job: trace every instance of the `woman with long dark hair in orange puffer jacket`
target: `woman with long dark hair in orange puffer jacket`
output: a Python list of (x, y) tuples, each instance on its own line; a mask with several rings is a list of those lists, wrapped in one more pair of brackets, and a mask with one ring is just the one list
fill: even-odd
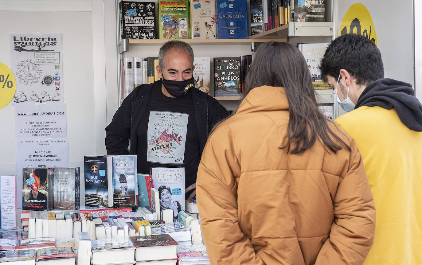
[(263, 43), (197, 175), (211, 264), (362, 264), (375, 209), (354, 140), (318, 109), (303, 55)]

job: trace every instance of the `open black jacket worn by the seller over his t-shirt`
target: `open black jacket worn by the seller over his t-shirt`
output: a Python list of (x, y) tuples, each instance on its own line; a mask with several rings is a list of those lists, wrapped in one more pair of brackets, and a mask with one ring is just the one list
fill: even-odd
[[(146, 106), (155, 84), (161, 81), (136, 87), (124, 100), (106, 127), (107, 154), (137, 154), (137, 128), (141, 123)], [(214, 98), (199, 89), (191, 89), (196, 123), (198, 125), (200, 152), (205, 147), (212, 127), (229, 115), (229, 112)], [(175, 110), (177, 111), (177, 110)], [(132, 130), (132, 128), (135, 128)], [(145, 129), (146, 130), (146, 129)], [(130, 153), (127, 151), (130, 140)]]

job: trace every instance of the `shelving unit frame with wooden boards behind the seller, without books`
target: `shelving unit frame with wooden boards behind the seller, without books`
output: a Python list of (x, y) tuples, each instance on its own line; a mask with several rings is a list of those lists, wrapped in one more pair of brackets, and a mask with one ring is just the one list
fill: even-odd
[[(117, 17), (118, 14), (118, 2), (116, 0)], [(280, 27), (267, 30), (245, 39), (187, 39), (182, 40), (189, 43), (194, 50), (195, 57), (210, 57), (211, 62), (211, 90), (213, 90), (213, 57), (231, 57), (239, 56), (244, 54), (251, 54), (251, 51), (255, 51), (256, 47), (260, 43), (267, 41), (284, 41), (296, 45), (296, 43), (329, 43), (333, 40), (334, 27), (333, 27), (333, 1), (325, 1), (325, 20), (326, 22), (289, 22)], [(249, 1), (248, 1), (249, 4)], [(117, 29), (119, 31), (120, 24), (119, 20), (116, 21)], [(117, 32), (118, 35), (118, 62), (123, 57), (151, 57), (157, 56), (158, 50), (163, 43), (168, 40), (162, 39), (121, 39), (121, 32)], [(119, 73), (121, 71), (121, 64), (118, 63)], [(119, 78), (120, 75), (119, 75)], [(121, 84), (119, 80), (118, 84)], [(118, 88), (120, 91), (120, 87)], [(323, 105), (331, 105), (333, 107), (333, 116), (338, 116), (338, 108), (335, 103), (335, 95), (333, 90), (316, 90), (317, 98), (319, 103)], [(119, 105), (122, 103), (124, 98), (119, 93)], [(211, 91), (211, 95), (214, 95)], [(240, 96), (232, 97), (215, 97), (224, 105), (228, 110), (233, 110), (238, 104)]]

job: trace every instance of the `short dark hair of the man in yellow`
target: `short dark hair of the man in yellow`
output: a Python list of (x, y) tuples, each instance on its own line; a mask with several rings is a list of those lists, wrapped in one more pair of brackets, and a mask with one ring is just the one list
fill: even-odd
[(356, 84), (365, 85), (384, 78), (381, 52), (376, 45), (362, 35), (341, 35), (328, 46), (319, 65), (322, 78), (337, 78), (345, 69), (356, 78)]

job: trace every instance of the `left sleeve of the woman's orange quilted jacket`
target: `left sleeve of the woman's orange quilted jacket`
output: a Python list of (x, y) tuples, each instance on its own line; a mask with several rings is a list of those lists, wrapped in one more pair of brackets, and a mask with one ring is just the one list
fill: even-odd
[(235, 177), (240, 176), (240, 166), (230, 138), (217, 128), (198, 168), (196, 190), (203, 238), (213, 265), (263, 265), (238, 225)]

